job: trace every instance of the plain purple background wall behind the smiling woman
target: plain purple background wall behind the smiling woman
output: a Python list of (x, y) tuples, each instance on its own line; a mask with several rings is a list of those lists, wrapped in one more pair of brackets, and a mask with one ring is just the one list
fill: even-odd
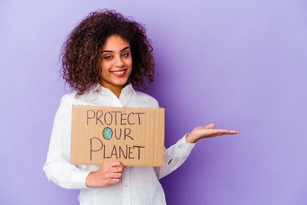
[(196, 126), (238, 129), (203, 139), (161, 179), (170, 205), (306, 205), (307, 1), (0, 2), (0, 204), (76, 205), (78, 190), (43, 172), (60, 98), (66, 35), (110, 8), (146, 24), (165, 146)]

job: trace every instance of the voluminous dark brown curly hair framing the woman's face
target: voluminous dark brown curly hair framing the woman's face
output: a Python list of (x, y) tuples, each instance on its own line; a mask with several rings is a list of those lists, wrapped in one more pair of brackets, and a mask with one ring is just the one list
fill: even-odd
[(146, 89), (146, 82), (153, 83), (153, 47), (144, 25), (114, 10), (97, 10), (73, 29), (60, 51), (60, 75), (70, 88), (77, 90), (76, 97), (101, 82), (102, 47), (112, 35), (118, 35), (130, 44), (132, 71), (129, 82), (143, 89)]

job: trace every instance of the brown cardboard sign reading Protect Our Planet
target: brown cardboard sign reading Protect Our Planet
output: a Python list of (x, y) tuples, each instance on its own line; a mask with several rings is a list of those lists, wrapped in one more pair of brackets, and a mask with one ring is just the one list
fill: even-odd
[(164, 108), (73, 105), (71, 164), (163, 166)]

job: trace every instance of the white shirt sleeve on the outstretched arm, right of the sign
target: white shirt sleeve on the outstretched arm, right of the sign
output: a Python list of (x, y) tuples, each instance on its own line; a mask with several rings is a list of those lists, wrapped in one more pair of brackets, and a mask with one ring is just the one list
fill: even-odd
[(185, 134), (175, 145), (172, 145), (168, 149), (165, 149), (164, 147), (164, 166), (154, 168), (158, 179), (172, 173), (189, 156), (190, 152), (195, 146), (195, 143), (187, 143), (185, 141), (186, 135), (187, 134)]

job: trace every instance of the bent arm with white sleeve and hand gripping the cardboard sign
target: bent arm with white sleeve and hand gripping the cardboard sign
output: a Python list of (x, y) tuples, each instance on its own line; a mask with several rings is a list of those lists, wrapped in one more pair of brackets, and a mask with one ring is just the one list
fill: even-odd
[(107, 162), (97, 171), (81, 170), (70, 164), (72, 102), (63, 96), (55, 114), (47, 161), (47, 178), (63, 188), (81, 189), (118, 183), (124, 166), (119, 161)]

